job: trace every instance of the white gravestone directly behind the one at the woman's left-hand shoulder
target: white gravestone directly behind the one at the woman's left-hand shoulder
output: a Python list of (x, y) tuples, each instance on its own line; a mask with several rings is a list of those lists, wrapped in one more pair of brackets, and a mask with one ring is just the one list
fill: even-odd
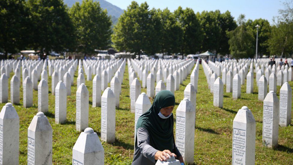
[(137, 78), (134, 78), (130, 85), (130, 110), (131, 112), (135, 112), (135, 102), (137, 97), (141, 93), (141, 86), (140, 82), (138, 81)]

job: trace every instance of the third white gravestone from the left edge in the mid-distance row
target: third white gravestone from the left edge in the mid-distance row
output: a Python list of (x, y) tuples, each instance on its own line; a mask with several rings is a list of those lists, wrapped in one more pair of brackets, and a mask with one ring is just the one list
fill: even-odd
[(32, 81), (29, 76), (23, 82), (23, 106), (25, 108), (32, 106)]

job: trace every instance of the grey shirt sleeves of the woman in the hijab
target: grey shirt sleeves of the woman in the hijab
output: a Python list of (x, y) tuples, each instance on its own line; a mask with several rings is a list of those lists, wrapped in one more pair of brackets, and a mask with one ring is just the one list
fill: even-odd
[[(145, 128), (138, 128), (136, 132), (137, 143), (135, 144), (135, 151), (132, 165), (153, 165), (156, 163), (155, 154), (157, 149), (150, 146), (149, 132)], [(175, 154), (180, 157), (181, 154), (176, 146), (173, 146)], [(172, 151), (171, 151), (172, 152)]]

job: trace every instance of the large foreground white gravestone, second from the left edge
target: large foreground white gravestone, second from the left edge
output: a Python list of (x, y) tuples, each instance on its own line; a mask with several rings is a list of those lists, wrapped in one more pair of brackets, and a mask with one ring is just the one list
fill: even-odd
[(53, 130), (43, 112), (38, 112), (28, 128), (27, 164), (52, 164)]

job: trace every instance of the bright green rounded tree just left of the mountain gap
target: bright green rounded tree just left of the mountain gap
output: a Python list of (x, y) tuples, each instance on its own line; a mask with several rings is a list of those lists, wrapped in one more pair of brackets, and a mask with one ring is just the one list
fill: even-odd
[(77, 51), (87, 55), (95, 49), (108, 48), (112, 22), (98, 2), (83, 0), (81, 5), (76, 2), (69, 14), (76, 28)]

